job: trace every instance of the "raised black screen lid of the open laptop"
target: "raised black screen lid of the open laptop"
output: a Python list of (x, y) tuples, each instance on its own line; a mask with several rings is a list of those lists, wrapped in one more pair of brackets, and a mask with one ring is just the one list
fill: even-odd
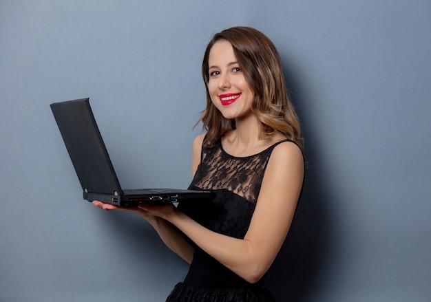
[(123, 195), (88, 98), (50, 106), (83, 191)]

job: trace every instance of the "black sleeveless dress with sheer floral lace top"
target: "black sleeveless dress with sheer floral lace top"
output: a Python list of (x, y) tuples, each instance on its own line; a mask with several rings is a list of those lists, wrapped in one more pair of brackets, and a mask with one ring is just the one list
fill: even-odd
[[(286, 142), (290, 140), (283, 140)], [(216, 197), (209, 202), (178, 204), (178, 208), (202, 226), (214, 232), (243, 239), (255, 210), (260, 185), (274, 147), (244, 158), (226, 153), (220, 140), (202, 147), (201, 159), (189, 186), (193, 190), (211, 190)], [(251, 284), (198, 246), (185, 280), (178, 283), (167, 302), (273, 302), (263, 288), (264, 277)]]

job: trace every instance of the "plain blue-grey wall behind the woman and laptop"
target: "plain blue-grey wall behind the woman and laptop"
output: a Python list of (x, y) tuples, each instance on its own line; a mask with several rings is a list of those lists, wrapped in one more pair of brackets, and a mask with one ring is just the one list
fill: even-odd
[(49, 104), (90, 97), (124, 187), (190, 180), (214, 32), (282, 56), (307, 180), (280, 301), (429, 301), (431, 2), (0, 2), (0, 301), (163, 301), (187, 272), (143, 219), (82, 200)]

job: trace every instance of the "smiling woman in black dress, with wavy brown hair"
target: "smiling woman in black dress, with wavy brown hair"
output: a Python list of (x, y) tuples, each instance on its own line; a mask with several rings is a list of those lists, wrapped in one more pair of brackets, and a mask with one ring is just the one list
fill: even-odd
[[(273, 43), (253, 28), (213, 36), (202, 62), (206, 133), (189, 188), (211, 202), (120, 208), (145, 217), (191, 263), (167, 301), (274, 301), (264, 275), (288, 233), (304, 180), (299, 122)], [(118, 209), (93, 202), (105, 210)]]

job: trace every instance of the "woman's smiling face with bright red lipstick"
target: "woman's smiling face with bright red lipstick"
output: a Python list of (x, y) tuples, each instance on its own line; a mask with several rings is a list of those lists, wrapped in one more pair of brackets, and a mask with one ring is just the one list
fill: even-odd
[(254, 94), (246, 82), (231, 43), (216, 42), (209, 52), (208, 66), (209, 95), (224, 118), (238, 120), (251, 116)]

